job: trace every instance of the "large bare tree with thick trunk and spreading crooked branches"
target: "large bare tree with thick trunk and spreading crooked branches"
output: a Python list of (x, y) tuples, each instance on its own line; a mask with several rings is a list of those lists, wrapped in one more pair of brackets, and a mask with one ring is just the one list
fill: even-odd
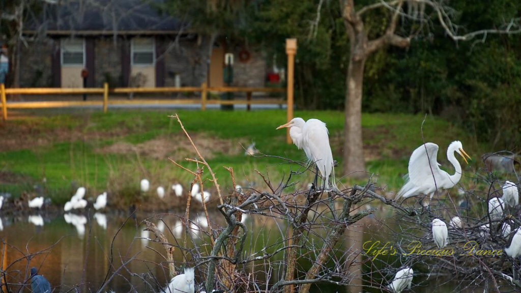
[[(422, 28), (428, 28), (434, 22), (438, 22), (446, 35), (454, 41), (466, 41), (475, 36), (483, 36), (481, 40), (485, 40), (488, 34), (514, 34), (521, 31), (517, 19), (512, 19), (510, 22), (504, 23), (504, 26), (500, 29), (486, 29), (458, 34), (458, 26), (453, 22), (456, 13), (446, 4), (446, 1), (439, 0), (378, 0), (372, 4), (359, 6), (355, 4), (354, 0), (340, 0), (342, 18), (348, 31), (351, 46), (348, 74), (345, 81), (343, 154), (345, 174), (352, 174), (354, 177), (364, 176), (364, 173), (358, 172), (365, 170), (362, 143), (362, 96), (365, 63), (371, 54), (386, 46), (408, 47), (413, 36), (418, 35)], [(404, 9), (405, 7), (407, 9)], [(390, 20), (384, 33), (371, 40), (369, 39), (368, 28), (365, 25), (364, 15), (375, 9), (386, 9)], [(396, 27), (400, 25), (401, 19), (405, 19), (409, 23), (417, 23), (420, 29), (405, 33), (404, 30), (398, 32)], [(461, 28), (460, 31), (462, 31)]]

